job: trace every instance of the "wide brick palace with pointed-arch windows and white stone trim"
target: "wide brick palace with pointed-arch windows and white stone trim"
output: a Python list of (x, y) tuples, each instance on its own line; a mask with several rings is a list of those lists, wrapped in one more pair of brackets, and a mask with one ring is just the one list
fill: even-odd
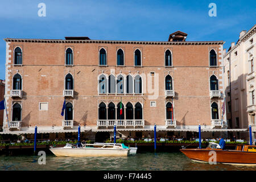
[[(226, 131), (223, 41), (6, 38), (3, 133), (203, 137)], [(65, 111), (61, 115), (65, 101)], [(122, 113), (121, 111), (122, 110)], [(213, 131), (215, 131), (213, 133)]]

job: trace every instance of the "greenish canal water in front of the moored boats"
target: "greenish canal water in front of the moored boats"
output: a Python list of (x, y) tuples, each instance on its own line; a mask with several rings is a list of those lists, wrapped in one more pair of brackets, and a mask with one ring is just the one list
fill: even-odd
[(256, 167), (192, 162), (181, 152), (145, 152), (125, 157), (71, 158), (46, 155), (46, 164), (38, 164), (40, 156), (0, 156), (0, 170), (108, 170), (108, 171), (256, 171)]

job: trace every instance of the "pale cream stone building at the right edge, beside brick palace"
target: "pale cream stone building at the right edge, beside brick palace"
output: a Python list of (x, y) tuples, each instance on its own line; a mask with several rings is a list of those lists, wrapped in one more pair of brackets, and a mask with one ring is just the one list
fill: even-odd
[[(225, 95), (228, 128), (239, 129), (252, 126), (256, 132), (255, 68), (256, 24), (248, 31), (241, 31), (235, 44), (224, 49)], [(238, 138), (248, 138), (248, 131), (230, 133)]]

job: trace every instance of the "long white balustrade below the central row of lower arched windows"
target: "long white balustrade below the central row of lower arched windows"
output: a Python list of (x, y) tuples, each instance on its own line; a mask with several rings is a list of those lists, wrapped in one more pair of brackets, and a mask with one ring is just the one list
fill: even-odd
[(98, 119), (97, 127), (99, 126), (143, 126), (144, 127), (144, 119)]

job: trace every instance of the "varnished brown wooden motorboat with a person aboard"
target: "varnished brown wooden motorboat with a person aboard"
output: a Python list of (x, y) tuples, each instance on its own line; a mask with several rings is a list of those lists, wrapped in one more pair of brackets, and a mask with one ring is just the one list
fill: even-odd
[[(256, 166), (256, 146), (249, 144), (238, 144), (236, 150), (222, 150), (217, 143), (210, 142), (207, 148), (183, 148), (180, 151), (195, 162)], [(211, 151), (216, 152), (215, 161)]]

